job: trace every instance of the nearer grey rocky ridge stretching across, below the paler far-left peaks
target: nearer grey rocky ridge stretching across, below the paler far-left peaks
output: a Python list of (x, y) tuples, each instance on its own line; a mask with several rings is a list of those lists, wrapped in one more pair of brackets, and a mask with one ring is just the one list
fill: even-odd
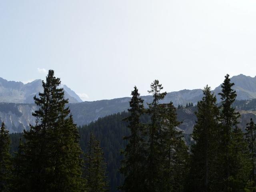
[[(249, 98), (254, 97), (254, 94), (256, 95), (256, 77), (252, 78), (240, 74), (232, 77), (231, 82), (236, 83), (233, 88), (237, 92), (237, 100), (248, 100)], [(37, 83), (40, 84), (40, 82)], [(22, 84), (19, 83), (16, 86), (19, 87), (20, 85)], [(212, 92), (215, 92), (218, 102), (220, 102), (220, 96), (218, 95), (218, 92), (220, 91), (221, 86), (212, 90)], [(178, 104), (186, 105), (188, 102), (196, 104), (201, 100), (202, 96), (202, 89), (185, 89), (168, 93), (160, 103), (168, 103), (172, 101), (175, 106), (178, 106)], [(144, 99), (145, 107), (147, 107), (146, 103), (152, 102), (152, 96), (150, 95), (141, 97)], [(70, 107), (70, 111), (74, 117), (74, 122), (78, 126), (82, 126), (84, 124), (90, 124), (90, 122), (96, 121), (98, 118), (126, 111), (129, 108), (129, 101), (130, 97), (124, 97), (111, 100), (76, 102), (70, 103), (68, 106)], [(32, 100), (30, 103), (32, 102), (34, 101)], [(0, 103), (0, 121), (6, 122), (6, 127), (8, 127), (11, 132), (20, 132), (24, 128), (29, 129), (29, 124), (34, 124), (32, 112), (35, 109), (36, 106), (34, 104), (2, 102)], [(184, 114), (183, 116), (186, 115)], [(189, 131), (191, 132), (191, 128)]]

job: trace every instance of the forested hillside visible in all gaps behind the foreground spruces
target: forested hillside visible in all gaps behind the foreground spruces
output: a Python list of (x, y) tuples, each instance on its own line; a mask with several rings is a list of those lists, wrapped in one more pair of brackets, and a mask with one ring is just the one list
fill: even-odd
[[(240, 109), (240, 106), (246, 103), (250, 103), (248, 101), (236, 101), (236, 108)], [(250, 106), (250, 105), (249, 105)], [(254, 108), (255, 105), (251, 106)], [(252, 109), (250, 107), (250, 109)], [(178, 120), (183, 121), (182, 124), (179, 125), (180, 130), (184, 130), (188, 132), (185, 134), (186, 143), (190, 145), (191, 136), (190, 134), (193, 131), (193, 126), (196, 121), (196, 116), (194, 114), (196, 112), (196, 107), (184, 108), (177, 110)], [(240, 127), (242, 130), (245, 130), (246, 123), (249, 122), (250, 118), (256, 119), (256, 112), (254, 111), (240, 111), (241, 119), (240, 119)], [(124, 118), (128, 116), (128, 112), (121, 112), (117, 114), (112, 114), (103, 118), (99, 118), (95, 122), (91, 122), (88, 125), (78, 126), (78, 132), (80, 135), (80, 146), (82, 150), (85, 152), (87, 148), (87, 144), (90, 138), (90, 132), (93, 132), (96, 138), (100, 141), (101, 147), (104, 151), (104, 157), (107, 162), (107, 175), (110, 181), (111, 191), (116, 191), (116, 187), (119, 186), (123, 181), (123, 176), (119, 172), (120, 168), (120, 160), (122, 159), (120, 155), (120, 151), (124, 149), (127, 142), (122, 138), (130, 133), (128, 130), (127, 123), (123, 121)], [(143, 122), (148, 121), (148, 117), (143, 118)], [(11, 145), (11, 153), (18, 151), (19, 138), (22, 137), (22, 133), (10, 134), (12, 145)]]

